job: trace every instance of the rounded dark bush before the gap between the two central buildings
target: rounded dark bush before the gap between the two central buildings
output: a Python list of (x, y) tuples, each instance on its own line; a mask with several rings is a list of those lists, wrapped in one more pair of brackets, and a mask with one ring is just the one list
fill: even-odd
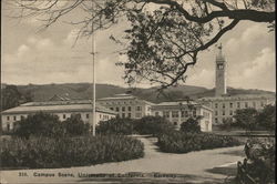
[(144, 116), (135, 121), (135, 131), (140, 134), (158, 135), (174, 130), (174, 125), (162, 116)]

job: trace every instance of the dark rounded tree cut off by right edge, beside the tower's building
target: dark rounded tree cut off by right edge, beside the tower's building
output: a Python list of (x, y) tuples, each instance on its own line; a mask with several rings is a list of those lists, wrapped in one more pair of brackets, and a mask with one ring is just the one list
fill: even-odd
[(276, 105), (266, 105), (256, 117), (256, 123), (260, 127), (275, 131), (276, 127)]

